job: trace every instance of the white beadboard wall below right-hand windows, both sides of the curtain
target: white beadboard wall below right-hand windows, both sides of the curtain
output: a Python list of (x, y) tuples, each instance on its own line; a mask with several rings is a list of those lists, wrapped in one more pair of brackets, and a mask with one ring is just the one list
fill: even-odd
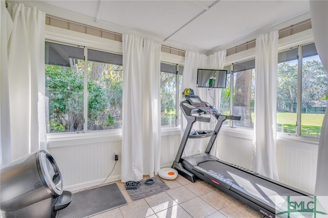
[[(220, 159), (229, 163), (251, 168), (252, 133), (233, 134), (231, 130), (222, 131), (218, 140)], [(235, 136), (231, 136), (235, 135)], [(279, 182), (314, 193), (318, 141), (306, 138), (278, 135), (277, 167)]]

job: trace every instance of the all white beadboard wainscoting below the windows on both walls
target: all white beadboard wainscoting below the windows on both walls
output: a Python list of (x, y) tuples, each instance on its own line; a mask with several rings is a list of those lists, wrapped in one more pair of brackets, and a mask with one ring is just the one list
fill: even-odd
[[(252, 135), (234, 134), (221, 131), (217, 137), (220, 159), (250, 169), (252, 161)], [(236, 135), (236, 136), (234, 136)], [(111, 141), (113, 140), (113, 141)], [(121, 139), (77, 140), (48, 142), (48, 151), (54, 157), (63, 176), (66, 190), (98, 185), (105, 181), (115, 164), (114, 152), (118, 151), (119, 161), (106, 182), (120, 180)], [(316, 178), (318, 143), (306, 138), (280, 137), (277, 141), (277, 165), (279, 181), (303, 191), (313, 193)], [(50, 145), (50, 146), (49, 146)], [(178, 147), (180, 133), (162, 133), (161, 167), (171, 167)]]

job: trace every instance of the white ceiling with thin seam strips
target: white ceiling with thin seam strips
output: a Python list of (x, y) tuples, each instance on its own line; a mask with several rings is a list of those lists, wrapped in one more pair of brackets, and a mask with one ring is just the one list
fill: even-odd
[(227, 49), (224, 47), (310, 18), (309, 2), (304, 0), (20, 2), (52, 16), (204, 52)]

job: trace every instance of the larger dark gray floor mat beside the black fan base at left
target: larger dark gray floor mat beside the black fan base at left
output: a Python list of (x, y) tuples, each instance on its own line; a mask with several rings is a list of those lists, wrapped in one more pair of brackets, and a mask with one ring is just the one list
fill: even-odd
[(56, 218), (88, 217), (128, 204), (116, 183), (73, 193), (68, 207)]

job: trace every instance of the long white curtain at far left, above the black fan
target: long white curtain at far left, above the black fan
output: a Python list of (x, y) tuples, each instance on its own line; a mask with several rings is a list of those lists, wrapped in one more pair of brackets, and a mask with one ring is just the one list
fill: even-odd
[[(8, 72), (6, 73), (6, 70), (3, 72), (2, 69), (2, 78), (3, 76), (5, 78), (2, 83), (7, 83), (5, 84), (7, 90), (3, 93), (3, 86), (1, 89), (7, 105), (4, 106), (3, 103), (1, 105), (1, 135), (6, 139), (6, 143), (2, 143), (2, 155), (10, 157), (10, 160), (3, 162), (4, 165), (30, 152), (46, 148), (44, 103), (46, 14), (36, 8), (27, 8), (24, 4), (10, 3), (8, 12), (13, 21), (13, 28), (7, 48)], [(3, 63), (1, 65), (3, 66)], [(3, 116), (3, 112), (7, 117), (4, 117), (5, 114)], [(5, 127), (10, 130), (3, 130)]]

